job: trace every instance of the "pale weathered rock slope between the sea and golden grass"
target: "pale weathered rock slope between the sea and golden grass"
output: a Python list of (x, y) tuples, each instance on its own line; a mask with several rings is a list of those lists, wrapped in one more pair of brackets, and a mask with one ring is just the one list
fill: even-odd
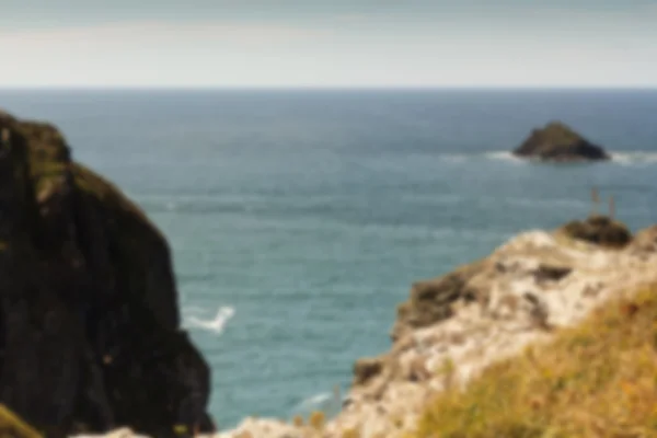
[[(625, 229), (609, 218), (583, 223)], [(580, 239), (564, 228), (529, 231), (482, 261), (418, 281), (399, 308), (392, 348), (356, 364), (348, 403), (321, 431), (250, 418), (219, 437), (405, 437), (437, 393), (462, 388), (530, 344), (540, 351), (560, 327), (657, 281), (656, 230), (623, 244)]]

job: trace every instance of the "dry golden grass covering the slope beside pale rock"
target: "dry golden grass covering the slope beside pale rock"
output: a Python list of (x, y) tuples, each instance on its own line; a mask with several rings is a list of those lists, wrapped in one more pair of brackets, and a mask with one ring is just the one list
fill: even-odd
[(657, 437), (657, 287), (439, 395), (410, 438)]

